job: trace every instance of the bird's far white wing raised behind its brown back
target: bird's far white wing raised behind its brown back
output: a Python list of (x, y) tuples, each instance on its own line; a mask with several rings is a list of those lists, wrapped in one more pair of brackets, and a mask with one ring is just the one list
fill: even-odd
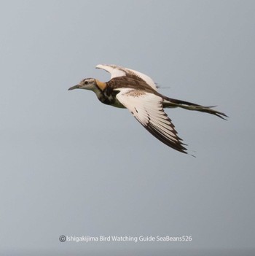
[(98, 65), (96, 69), (104, 69), (111, 74), (111, 78), (114, 77), (123, 77), (123, 76), (135, 76), (139, 79), (143, 79), (150, 87), (154, 90), (157, 90), (157, 85), (153, 82), (152, 78), (148, 77), (146, 74), (142, 74), (133, 69), (123, 68), (122, 66), (116, 65)]

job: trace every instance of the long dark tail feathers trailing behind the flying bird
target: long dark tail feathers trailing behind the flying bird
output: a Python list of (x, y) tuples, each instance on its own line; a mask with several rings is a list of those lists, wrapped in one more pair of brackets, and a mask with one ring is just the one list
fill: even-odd
[(182, 109), (189, 109), (189, 110), (205, 112), (205, 113), (209, 113), (212, 115), (216, 115), (217, 117), (220, 117), (224, 120), (227, 120), (225, 117), (228, 117), (223, 112), (219, 112), (215, 109), (212, 109), (215, 106), (201, 106), (201, 105), (194, 104), (192, 102), (181, 101), (176, 98), (168, 98), (165, 96), (163, 98), (164, 98), (164, 101), (163, 101), (164, 107), (181, 107)]

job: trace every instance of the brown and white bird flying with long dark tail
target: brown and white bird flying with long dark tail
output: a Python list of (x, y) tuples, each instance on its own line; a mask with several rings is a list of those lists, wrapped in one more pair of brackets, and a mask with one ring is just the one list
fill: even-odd
[(146, 74), (115, 65), (98, 65), (111, 74), (109, 82), (85, 78), (68, 90), (93, 90), (103, 104), (128, 109), (136, 120), (157, 139), (174, 150), (187, 154), (187, 149), (178, 136), (175, 126), (164, 112), (164, 108), (176, 108), (205, 112), (225, 119), (227, 115), (213, 109), (188, 101), (168, 98), (157, 91), (157, 85)]

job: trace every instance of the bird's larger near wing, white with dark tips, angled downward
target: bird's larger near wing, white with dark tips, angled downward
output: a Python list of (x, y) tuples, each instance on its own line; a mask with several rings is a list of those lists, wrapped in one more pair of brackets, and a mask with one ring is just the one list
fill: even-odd
[(187, 150), (162, 107), (162, 98), (141, 90), (117, 89), (117, 99), (157, 139), (180, 152)]

